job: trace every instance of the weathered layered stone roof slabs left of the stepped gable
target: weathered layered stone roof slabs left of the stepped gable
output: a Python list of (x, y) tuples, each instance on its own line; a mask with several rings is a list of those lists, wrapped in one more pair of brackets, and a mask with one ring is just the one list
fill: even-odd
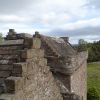
[(5, 81), (12, 76), (14, 63), (21, 62), (23, 40), (7, 40), (0, 44), (0, 92), (7, 91)]

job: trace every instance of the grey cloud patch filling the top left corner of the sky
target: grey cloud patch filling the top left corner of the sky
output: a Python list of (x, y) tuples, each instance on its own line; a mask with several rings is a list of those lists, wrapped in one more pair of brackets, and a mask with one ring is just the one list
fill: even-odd
[(12, 14), (28, 8), (38, 0), (0, 0), (0, 13)]

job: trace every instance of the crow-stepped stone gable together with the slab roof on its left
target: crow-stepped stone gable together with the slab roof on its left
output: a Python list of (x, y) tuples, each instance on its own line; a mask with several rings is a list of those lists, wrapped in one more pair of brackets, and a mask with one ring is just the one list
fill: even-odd
[(63, 100), (40, 39), (20, 35), (0, 44), (0, 100)]

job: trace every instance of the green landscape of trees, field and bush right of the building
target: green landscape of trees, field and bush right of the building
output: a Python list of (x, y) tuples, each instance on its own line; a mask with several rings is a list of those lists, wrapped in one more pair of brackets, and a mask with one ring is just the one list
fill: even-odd
[(100, 97), (100, 41), (88, 43), (80, 39), (76, 48), (78, 51), (88, 51), (87, 90), (91, 98), (98, 95)]

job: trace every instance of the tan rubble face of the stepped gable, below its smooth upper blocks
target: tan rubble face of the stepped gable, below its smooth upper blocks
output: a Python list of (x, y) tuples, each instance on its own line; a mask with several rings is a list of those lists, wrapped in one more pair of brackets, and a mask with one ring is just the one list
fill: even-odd
[[(37, 51), (37, 50), (36, 50)], [(36, 53), (34, 51), (34, 53)], [(23, 67), (23, 73), (20, 72)], [(15, 71), (14, 71), (15, 70)], [(0, 99), (7, 100), (62, 100), (58, 87), (46, 66), (46, 59), (33, 58), (31, 62), (17, 63), (14, 66), (13, 75), (5, 80), (7, 93)], [(22, 76), (22, 77), (21, 77)], [(13, 93), (13, 94), (12, 94)]]

